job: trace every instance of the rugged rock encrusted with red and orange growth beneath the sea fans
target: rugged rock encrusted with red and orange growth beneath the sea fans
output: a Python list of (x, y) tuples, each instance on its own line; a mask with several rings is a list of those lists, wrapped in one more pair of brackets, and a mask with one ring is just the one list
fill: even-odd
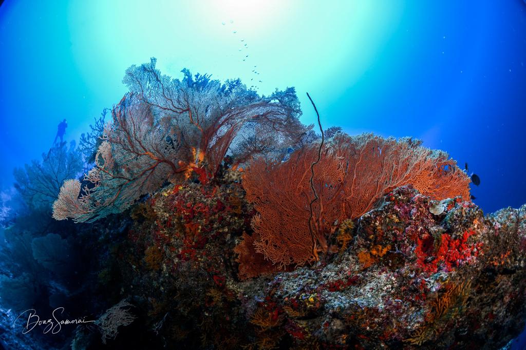
[(526, 205), (484, 216), (461, 197), (399, 187), (343, 221), (337, 249), (316, 266), (284, 271), (260, 256), (252, 261), (267, 276), (251, 278), (236, 258), (258, 254), (239, 248), (254, 214), (226, 178), (171, 185), (134, 207), (105, 282), (147, 330), (126, 337), (151, 347), (463, 349), (502, 347), (524, 326)]

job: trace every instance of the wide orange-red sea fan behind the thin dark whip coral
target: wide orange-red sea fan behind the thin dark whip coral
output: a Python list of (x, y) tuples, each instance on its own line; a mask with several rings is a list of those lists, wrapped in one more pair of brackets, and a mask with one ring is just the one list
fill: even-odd
[(410, 138), (395, 140), (372, 134), (338, 133), (321, 150), (313, 179), (319, 200), (313, 203), (309, 233), (310, 166), (319, 143), (295, 153), (286, 162), (255, 159), (243, 187), (258, 215), (252, 220), (257, 252), (281, 266), (304, 265), (326, 252), (328, 238), (345, 219), (356, 219), (389, 191), (411, 184), (435, 200), (462, 196), (470, 200), (466, 173), (446, 152), (421, 146)]

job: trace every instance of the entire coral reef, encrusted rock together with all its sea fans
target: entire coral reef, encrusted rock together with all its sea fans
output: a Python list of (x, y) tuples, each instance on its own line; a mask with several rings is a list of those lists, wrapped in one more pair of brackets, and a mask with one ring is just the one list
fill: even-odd
[[(0, 348), (490, 349), (523, 329), (526, 204), (484, 215), (419, 140), (320, 140), (294, 88), (183, 74), (131, 66), (108, 123), (16, 172)], [(31, 307), (90, 321), (15, 332)]]

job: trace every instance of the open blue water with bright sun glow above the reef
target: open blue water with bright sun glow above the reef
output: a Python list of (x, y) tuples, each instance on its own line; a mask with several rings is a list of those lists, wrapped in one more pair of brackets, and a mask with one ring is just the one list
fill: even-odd
[[(247, 44), (247, 45), (245, 45)], [(526, 4), (479, 2), (31, 2), (0, 7), (0, 187), (41, 157), (57, 124), (78, 139), (126, 91), (124, 70), (157, 58), (295, 86), (305, 123), (413, 136), (481, 179), (484, 212), (526, 203)], [(519, 346), (519, 345), (517, 345)], [(524, 343), (522, 345), (524, 346)], [(517, 348), (521, 348), (521, 347)]]

